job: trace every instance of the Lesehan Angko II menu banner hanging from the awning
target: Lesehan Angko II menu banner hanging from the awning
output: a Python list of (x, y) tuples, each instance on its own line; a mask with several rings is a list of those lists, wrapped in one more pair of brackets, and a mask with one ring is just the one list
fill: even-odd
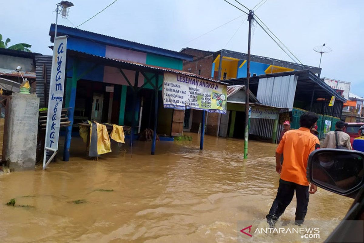
[(165, 72), (163, 106), (226, 114), (226, 85)]

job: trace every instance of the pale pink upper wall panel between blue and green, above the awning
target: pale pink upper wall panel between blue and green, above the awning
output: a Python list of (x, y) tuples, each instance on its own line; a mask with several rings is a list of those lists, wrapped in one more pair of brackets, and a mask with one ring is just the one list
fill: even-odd
[(139, 51), (126, 50), (119, 47), (106, 46), (106, 57), (145, 64), (147, 54)]

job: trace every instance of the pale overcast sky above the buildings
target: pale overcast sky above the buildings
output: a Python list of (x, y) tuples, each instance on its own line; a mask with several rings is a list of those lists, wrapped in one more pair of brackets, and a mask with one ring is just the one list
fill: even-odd
[[(77, 26), (112, 1), (73, 0), (68, 19)], [(0, 34), (10, 44), (29, 43), (33, 52), (52, 55), (48, 32), (58, 2), (1, 0)], [(241, 0), (248, 8), (259, 2)], [(364, 97), (363, 9), (361, 0), (268, 0), (255, 13), (306, 65), (318, 67), (320, 54), (313, 47), (326, 43), (333, 51), (323, 55), (321, 77), (351, 82), (351, 93)], [(246, 53), (245, 16), (193, 40), (242, 14), (223, 0), (118, 0), (80, 29), (175, 51), (191, 47)], [(73, 27), (70, 21), (59, 18), (59, 24)], [(252, 54), (291, 61), (258, 25), (253, 28)]]

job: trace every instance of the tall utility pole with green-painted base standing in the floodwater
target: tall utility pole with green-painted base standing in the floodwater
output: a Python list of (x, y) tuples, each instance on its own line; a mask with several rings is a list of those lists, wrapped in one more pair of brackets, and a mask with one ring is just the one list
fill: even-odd
[(249, 137), (249, 79), (250, 79), (250, 39), (252, 36), (252, 20), (254, 12), (249, 10), (249, 35), (248, 35), (248, 60), (246, 66), (246, 93), (245, 93), (245, 136), (244, 136), (244, 158), (248, 158), (248, 137)]

